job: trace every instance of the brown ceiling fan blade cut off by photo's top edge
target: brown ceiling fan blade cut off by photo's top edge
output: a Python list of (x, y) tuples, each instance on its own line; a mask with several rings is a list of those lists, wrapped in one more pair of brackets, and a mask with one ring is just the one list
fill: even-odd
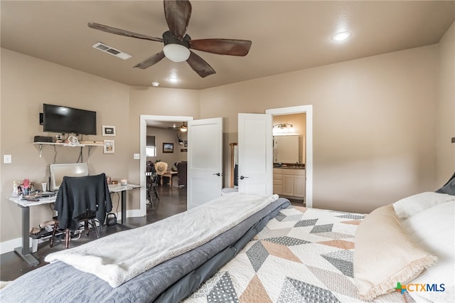
[(169, 31), (173, 36), (182, 40), (188, 28), (191, 17), (191, 3), (188, 0), (164, 1), (164, 16)]

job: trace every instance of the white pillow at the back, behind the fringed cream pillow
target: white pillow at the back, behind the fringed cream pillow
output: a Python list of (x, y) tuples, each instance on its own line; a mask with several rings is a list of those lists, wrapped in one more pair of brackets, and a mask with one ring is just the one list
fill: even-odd
[(446, 193), (427, 191), (424, 193), (417, 193), (417, 195), (409, 196), (407, 198), (402, 198), (393, 203), (393, 208), (395, 208), (395, 213), (397, 213), (400, 220), (406, 220), (407, 218), (417, 215), (417, 213), (420, 213), (421, 211), (449, 201), (455, 202), (455, 196)]

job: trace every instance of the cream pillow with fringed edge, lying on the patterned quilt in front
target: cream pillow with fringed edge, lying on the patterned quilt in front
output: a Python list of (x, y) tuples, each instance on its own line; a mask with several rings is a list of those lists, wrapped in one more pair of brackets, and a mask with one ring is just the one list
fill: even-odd
[(436, 260), (410, 239), (392, 205), (376, 208), (355, 230), (353, 270), (361, 299), (394, 292), (397, 282), (405, 285)]

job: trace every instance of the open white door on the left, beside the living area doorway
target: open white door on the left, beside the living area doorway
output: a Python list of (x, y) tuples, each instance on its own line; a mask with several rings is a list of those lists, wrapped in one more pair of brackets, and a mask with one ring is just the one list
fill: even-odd
[(187, 208), (221, 196), (223, 188), (223, 119), (188, 121)]

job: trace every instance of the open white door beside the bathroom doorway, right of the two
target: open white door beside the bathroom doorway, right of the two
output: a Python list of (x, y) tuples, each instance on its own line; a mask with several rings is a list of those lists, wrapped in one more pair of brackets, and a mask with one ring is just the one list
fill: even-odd
[(238, 115), (239, 192), (272, 195), (272, 115)]

